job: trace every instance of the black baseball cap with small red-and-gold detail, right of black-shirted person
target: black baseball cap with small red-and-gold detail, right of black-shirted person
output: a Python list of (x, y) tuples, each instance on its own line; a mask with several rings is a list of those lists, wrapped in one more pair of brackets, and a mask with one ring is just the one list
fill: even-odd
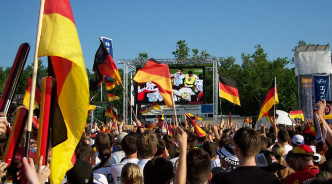
[(256, 156), (256, 165), (268, 172), (275, 172), (285, 169), (286, 167), (279, 164), (276, 156), (271, 151), (263, 151)]

